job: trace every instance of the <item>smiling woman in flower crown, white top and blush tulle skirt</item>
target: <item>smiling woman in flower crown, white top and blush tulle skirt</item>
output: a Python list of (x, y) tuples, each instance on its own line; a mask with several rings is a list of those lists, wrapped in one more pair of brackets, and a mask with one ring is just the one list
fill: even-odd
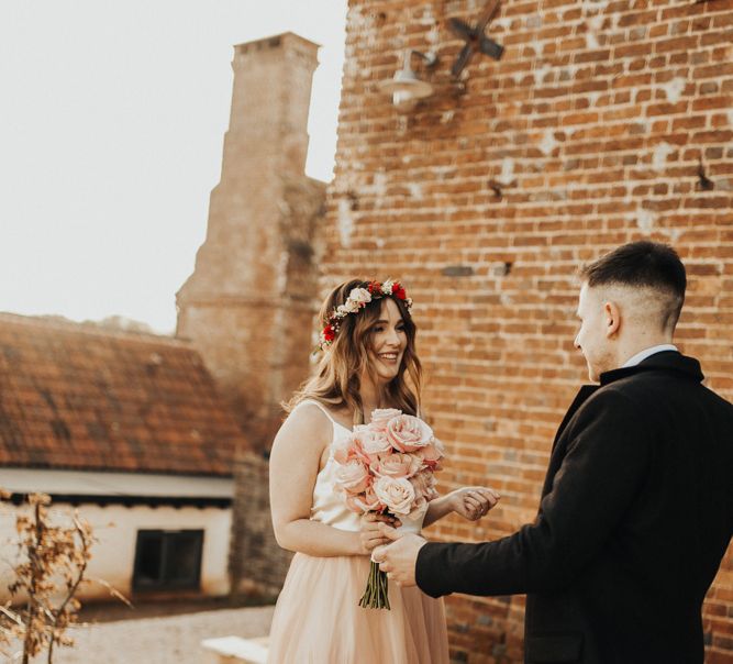
[[(271, 663), (448, 662), (442, 600), (392, 583), (391, 610), (359, 608), (371, 550), (387, 543), (378, 521), (400, 522), (359, 517), (335, 490), (333, 450), (355, 424), (378, 408), (420, 412), (411, 305), (399, 283), (351, 280), (321, 309), (323, 356), (288, 405), (270, 455), (275, 535), (296, 552), (273, 618)], [(464, 487), (431, 500), (418, 521), (451, 512), (476, 520), (498, 499), (492, 489)]]

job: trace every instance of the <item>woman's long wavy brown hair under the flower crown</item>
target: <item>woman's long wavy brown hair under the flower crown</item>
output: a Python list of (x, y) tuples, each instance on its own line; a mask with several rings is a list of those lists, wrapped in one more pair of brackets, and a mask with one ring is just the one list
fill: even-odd
[[(367, 288), (368, 284), (352, 279), (334, 288), (321, 306), (319, 313), (321, 327), (329, 323), (329, 317), (334, 309), (346, 303), (348, 294), (354, 288)], [(390, 407), (399, 408), (407, 414), (418, 414), (422, 390), (422, 365), (415, 352), (418, 330), (404, 301), (391, 296), (375, 299), (358, 313), (349, 314), (342, 320), (336, 337), (323, 353), (313, 376), (296, 391), (288, 403), (284, 405), (286, 411), (290, 412), (306, 399), (313, 399), (325, 406), (346, 406), (354, 413), (354, 423), (364, 423), (362, 376), (365, 373), (375, 376), (367, 351), (371, 343), (374, 323), (379, 320), (382, 302), (388, 298), (397, 305), (402, 317), (407, 345), (398, 374), (387, 385), (385, 396)]]

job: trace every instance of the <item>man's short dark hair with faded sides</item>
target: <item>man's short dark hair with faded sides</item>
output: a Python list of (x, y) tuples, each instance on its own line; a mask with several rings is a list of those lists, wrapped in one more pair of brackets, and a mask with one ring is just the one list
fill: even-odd
[(665, 330), (674, 330), (685, 303), (687, 275), (677, 252), (660, 242), (642, 240), (624, 244), (580, 269), (589, 287), (651, 288), (664, 297)]

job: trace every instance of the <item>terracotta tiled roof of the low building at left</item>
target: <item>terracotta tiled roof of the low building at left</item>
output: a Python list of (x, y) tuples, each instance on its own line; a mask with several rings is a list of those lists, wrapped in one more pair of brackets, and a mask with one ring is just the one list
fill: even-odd
[(241, 440), (189, 344), (0, 313), (0, 466), (231, 475)]

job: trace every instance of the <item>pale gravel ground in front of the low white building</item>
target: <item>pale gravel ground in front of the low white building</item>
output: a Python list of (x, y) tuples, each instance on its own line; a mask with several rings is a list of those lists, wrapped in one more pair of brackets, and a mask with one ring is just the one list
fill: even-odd
[(269, 633), (274, 607), (220, 609), (182, 616), (103, 622), (74, 628), (76, 645), (54, 654), (55, 664), (201, 664), (203, 639)]

